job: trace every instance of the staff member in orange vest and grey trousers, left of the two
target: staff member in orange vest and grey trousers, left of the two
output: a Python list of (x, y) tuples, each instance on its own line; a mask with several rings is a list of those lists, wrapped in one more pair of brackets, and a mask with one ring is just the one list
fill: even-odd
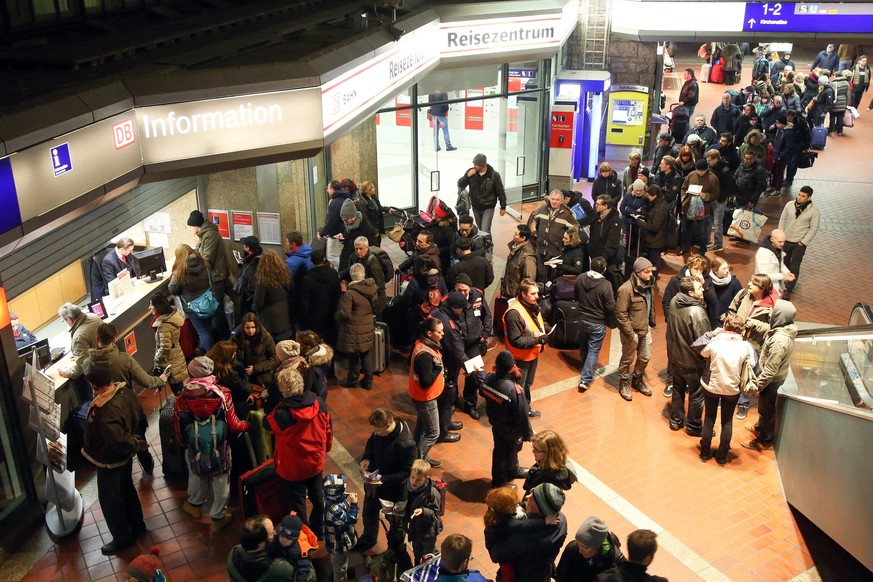
[(418, 445), (418, 456), (431, 467), (441, 465), (428, 453), (440, 436), (437, 398), (445, 388), (443, 355), (440, 352), (443, 335), (443, 324), (439, 319), (428, 317), (418, 324), (419, 339), (412, 348), (409, 374), (409, 396), (417, 416), (413, 439)]

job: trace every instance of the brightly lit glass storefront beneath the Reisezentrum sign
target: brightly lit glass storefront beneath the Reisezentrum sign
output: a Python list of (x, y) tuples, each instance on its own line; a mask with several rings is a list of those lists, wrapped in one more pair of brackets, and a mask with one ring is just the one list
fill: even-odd
[(532, 61), (437, 69), (383, 104), (376, 115), (383, 206), (422, 209), (434, 195), (454, 206), (457, 181), (477, 154), (500, 173), (508, 204), (538, 192), (543, 68)]

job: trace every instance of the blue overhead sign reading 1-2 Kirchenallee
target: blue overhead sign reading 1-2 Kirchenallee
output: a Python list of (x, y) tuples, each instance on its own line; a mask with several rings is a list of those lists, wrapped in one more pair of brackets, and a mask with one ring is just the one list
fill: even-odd
[(747, 3), (743, 32), (873, 31), (873, 4)]

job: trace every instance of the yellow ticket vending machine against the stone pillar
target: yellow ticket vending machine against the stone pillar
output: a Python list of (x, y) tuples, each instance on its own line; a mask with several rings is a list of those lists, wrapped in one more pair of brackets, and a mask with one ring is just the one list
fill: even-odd
[(641, 152), (649, 130), (649, 88), (645, 85), (613, 85), (606, 112), (606, 157), (624, 160)]

